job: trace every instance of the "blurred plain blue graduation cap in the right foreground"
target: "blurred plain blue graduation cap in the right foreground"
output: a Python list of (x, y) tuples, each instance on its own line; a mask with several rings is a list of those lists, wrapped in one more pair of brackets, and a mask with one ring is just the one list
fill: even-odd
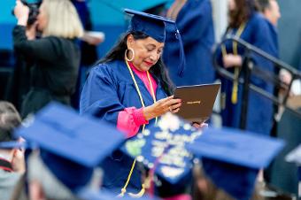
[(231, 128), (208, 128), (188, 150), (202, 158), (206, 175), (238, 200), (249, 200), (259, 169), (282, 150), (282, 140)]

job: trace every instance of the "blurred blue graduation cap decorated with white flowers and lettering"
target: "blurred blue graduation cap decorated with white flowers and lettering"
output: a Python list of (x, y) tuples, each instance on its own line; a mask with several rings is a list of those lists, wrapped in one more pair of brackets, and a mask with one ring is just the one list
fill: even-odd
[(189, 173), (191, 155), (185, 144), (201, 135), (189, 122), (166, 113), (157, 125), (144, 129), (122, 147), (129, 156), (170, 184), (178, 184)]

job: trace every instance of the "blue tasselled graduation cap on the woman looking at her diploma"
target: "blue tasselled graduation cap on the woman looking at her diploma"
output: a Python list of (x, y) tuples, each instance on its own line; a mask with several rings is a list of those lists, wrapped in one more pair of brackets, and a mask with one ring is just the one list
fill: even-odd
[(181, 41), (181, 34), (173, 19), (164, 18), (158, 15), (153, 15), (145, 12), (137, 12), (130, 9), (125, 9), (127, 14), (132, 14), (130, 25), (127, 32), (139, 31), (145, 35), (149, 35), (158, 42), (165, 42), (166, 40), (166, 23), (172, 24), (174, 27), (174, 35), (179, 40), (180, 45), (180, 64), (178, 67), (178, 75), (182, 76), (185, 70), (185, 54), (183, 44)]

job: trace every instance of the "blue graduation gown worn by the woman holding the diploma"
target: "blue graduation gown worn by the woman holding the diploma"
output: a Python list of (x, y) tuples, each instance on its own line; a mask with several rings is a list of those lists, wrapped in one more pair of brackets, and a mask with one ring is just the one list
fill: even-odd
[[(158, 82), (156, 98), (165, 98), (165, 91), (158, 79), (154, 78)], [(142, 93), (145, 106), (153, 104), (153, 98), (143, 81), (137, 75), (135, 75), (135, 80)], [(90, 71), (88, 80), (81, 93), (81, 114), (93, 115), (111, 123), (113, 126), (117, 126), (119, 112), (132, 106), (141, 108), (142, 104), (124, 61), (117, 60), (96, 65)], [(151, 119), (148, 126), (154, 122), (155, 119)], [(120, 189), (127, 181), (127, 175), (133, 161), (132, 158), (127, 157), (120, 150), (116, 150), (111, 156), (105, 158), (101, 165), (104, 170), (103, 187), (120, 192)], [(141, 188), (141, 173), (135, 166), (127, 191), (137, 192)]]

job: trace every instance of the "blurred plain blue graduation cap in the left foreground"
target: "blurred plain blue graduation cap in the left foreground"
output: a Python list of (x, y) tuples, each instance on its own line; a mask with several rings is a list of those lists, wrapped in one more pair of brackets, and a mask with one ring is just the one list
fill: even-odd
[(72, 191), (88, 183), (93, 167), (124, 141), (114, 127), (58, 103), (27, 119), (15, 134), (37, 145), (45, 165)]

